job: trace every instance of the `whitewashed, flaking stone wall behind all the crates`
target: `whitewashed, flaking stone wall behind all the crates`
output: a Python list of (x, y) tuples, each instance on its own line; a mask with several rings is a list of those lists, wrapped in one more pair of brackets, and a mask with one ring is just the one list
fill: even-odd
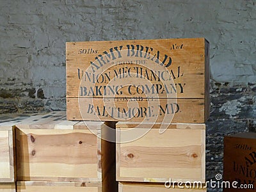
[(65, 109), (65, 42), (205, 37), (207, 179), (214, 178), (223, 135), (256, 131), (255, 26), (255, 0), (0, 0), (0, 113)]

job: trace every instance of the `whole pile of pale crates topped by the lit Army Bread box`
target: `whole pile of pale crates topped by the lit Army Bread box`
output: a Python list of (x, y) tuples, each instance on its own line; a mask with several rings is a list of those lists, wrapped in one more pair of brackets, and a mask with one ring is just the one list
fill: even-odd
[[(13, 186), (17, 154), (19, 192), (115, 191), (115, 180), (123, 192), (166, 191), (169, 180), (204, 183), (208, 117), (204, 38), (70, 42), (67, 118), (65, 112), (33, 115), (1, 132), (3, 167), (13, 169), (3, 177)], [(102, 140), (115, 125), (116, 143), (111, 142), (115, 136)], [(166, 130), (160, 134), (162, 125)], [(132, 139), (125, 133), (131, 129), (147, 134)], [(7, 148), (13, 141), (12, 154)]]

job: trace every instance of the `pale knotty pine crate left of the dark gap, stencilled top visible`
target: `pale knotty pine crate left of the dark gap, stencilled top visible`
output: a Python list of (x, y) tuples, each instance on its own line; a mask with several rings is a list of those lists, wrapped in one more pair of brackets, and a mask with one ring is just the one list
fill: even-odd
[(70, 122), (65, 118), (65, 111), (54, 112), (31, 116), (15, 125), (17, 179), (113, 181), (105, 172), (115, 167), (115, 143), (100, 139), (106, 125), (102, 122), (84, 125), (84, 122)]

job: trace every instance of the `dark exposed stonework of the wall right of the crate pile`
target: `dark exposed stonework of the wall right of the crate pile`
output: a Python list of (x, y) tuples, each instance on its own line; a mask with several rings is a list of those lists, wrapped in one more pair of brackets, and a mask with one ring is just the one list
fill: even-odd
[[(223, 136), (256, 132), (256, 84), (211, 83), (211, 117), (206, 123), (207, 179), (223, 173)], [(220, 189), (209, 189), (220, 191)]]

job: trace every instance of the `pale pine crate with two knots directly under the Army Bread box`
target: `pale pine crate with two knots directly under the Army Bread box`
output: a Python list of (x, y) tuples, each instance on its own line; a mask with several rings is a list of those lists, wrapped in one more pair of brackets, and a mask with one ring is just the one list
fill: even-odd
[[(205, 182), (205, 124), (116, 124), (116, 179), (132, 182)], [(148, 130), (148, 127), (152, 129)], [(125, 130), (147, 132), (127, 143)], [(136, 133), (135, 133), (136, 134)]]

